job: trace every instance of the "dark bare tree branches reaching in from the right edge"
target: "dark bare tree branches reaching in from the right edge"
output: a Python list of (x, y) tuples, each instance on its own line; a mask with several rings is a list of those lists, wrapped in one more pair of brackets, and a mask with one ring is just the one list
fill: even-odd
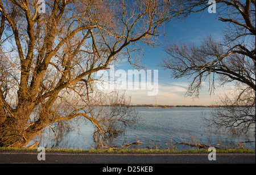
[[(184, 16), (210, 6), (203, 0), (182, 1), (182, 4), (180, 13)], [(229, 129), (242, 126), (241, 130), (246, 132), (249, 126), (255, 127), (255, 117), (252, 117), (255, 116), (255, 1), (216, 0), (216, 6), (218, 20), (226, 23), (222, 40), (209, 36), (200, 46), (174, 42), (166, 47), (168, 58), (163, 59), (161, 66), (171, 70), (174, 78), (192, 79), (187, 94), (196, 97), (205, 80), (209, 81), (211, 93), (216, 79), (221, 86), (236, 83), (233, 97), (221, 100), (228, 112), (219, 110), (212, 121)]]

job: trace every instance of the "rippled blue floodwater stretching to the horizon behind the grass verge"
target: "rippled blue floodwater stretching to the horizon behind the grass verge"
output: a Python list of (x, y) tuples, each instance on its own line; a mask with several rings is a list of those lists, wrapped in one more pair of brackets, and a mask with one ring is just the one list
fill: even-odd
[[(142, 142), (129, 148), (157, 148), (184, 150), (188, 147), (179, 143), (205, 144), (215, 147), (237, 147), (239, 142), (244, 142), (246, 148), (255, 150), (254, 131), (246, 135), (226, 133), (209, 128), (203, 119), (207, 117), (212, 108), (135, 108), (140, 116), (137, 126), (127, 129), (117, 139), (112, 140), (110, 146), (123, 146), (125, 144)], [(40, 145), (45, 148), (71, 148), (90, 150), (95, 148), (93, 142), (93, 124), (81, 121), (73, 123), (74, 129), (66, 132), (56, 141), (40, 140)]]

